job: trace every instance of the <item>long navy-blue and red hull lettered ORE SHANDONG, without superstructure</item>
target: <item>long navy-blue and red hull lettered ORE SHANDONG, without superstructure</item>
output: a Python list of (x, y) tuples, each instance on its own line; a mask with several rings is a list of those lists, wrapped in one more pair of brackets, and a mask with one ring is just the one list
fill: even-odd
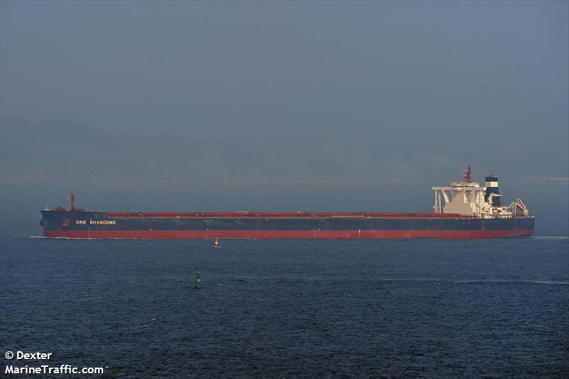
[(44, 237), (78, 239), (488, 239), (529, 237), (533, 217), (459, 214), (42, 211)]

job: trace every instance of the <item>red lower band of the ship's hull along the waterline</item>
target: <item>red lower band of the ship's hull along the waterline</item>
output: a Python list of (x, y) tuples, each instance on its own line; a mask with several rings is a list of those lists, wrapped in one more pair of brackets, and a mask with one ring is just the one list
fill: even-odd
[(46, 230), (43, 235), (80, 239), (490, 239), (531, 234), (533, 230)]

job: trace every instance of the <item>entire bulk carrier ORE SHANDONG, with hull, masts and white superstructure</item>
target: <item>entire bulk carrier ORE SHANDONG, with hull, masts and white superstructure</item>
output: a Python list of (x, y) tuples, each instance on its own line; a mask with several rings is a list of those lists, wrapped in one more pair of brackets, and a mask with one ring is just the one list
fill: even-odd
[(529, 237), (534, 218), (521, 199), (501, 204), (498, 178), (432, 187), (434, 212), (92, 212), (41, 211), (43, 236), (70, 239), (489, 239)]

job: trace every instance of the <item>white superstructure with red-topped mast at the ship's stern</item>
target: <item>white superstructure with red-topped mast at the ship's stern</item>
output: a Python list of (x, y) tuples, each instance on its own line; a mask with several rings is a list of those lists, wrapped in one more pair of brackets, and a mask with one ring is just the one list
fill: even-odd
[[(452, 182), (450, 187), (432, 187), (435, 191), (435, 213), (452, 213), (465, 216), (476, 216), (484, 219), (490, 218), (511, 218), (516, 216), (516, 209), (521, 209), (524, 216), (528, 216), (529, 211), (521, 202), (516, 199), (509, 206), (496, 206), (495, 197), (501, 197), (489, 190), (497, 189), (498, 182), (492, 182), (489, 187), (480, 187), (478, 183), (472, 182), (472, 172), (470, 166), (464, 171), (466, 182)], [(441, 199), (444, 200), (442, 205)], [(497, 202), (497, 204), (500, 204)]]

